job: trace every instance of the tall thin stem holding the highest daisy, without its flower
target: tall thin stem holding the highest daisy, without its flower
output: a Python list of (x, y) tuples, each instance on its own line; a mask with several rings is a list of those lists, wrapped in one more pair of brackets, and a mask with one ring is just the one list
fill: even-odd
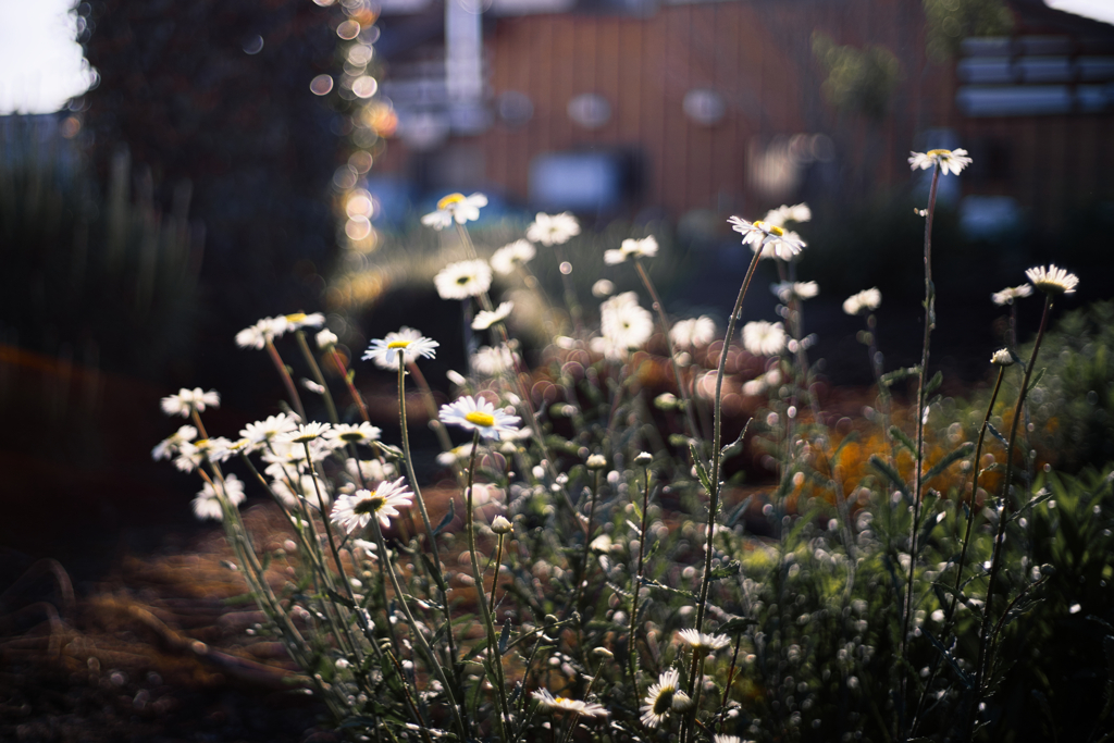
[(925, 338), (921, 343), (920, 379), (917, 383), (917, 452), (912, 488), (912, 522), (909, 527), (909, 577), (906, 579), (905, 602), (901, 610), (901, 637), (898, 655), (901, 658), (900, 693), (898, 696), (897, 733), (905, 726), (906, 693), (909, 686), (909, 623), (912, 619), (913, 584), (917, 579), (917, 536), (920, 530), (921, 488), (925, 480), (925, 397), (928, 384), (928, 352), (932, 329), (936, 326), (936, 289), (932, 285), (932, 217), (936, 215), (936, 186), (940, 180), (940, 166), (932, 169), (932, 186), (928, 192), (928, 214), (925, 217)]

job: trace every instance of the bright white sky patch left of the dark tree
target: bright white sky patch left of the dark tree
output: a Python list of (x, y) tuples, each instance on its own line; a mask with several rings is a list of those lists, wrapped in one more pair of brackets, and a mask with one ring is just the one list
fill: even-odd
[(89, 87), (75, 0), (0, 0), (0, 114), (49, 114)]

